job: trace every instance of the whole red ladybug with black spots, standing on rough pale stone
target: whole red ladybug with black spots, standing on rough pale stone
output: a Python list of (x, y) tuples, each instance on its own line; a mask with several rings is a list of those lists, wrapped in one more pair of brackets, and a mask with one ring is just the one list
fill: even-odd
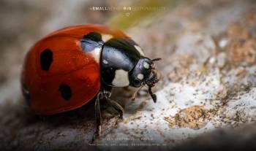
[(121, 31), (99, 25), (71, 26), (48, 34), (31, 47), (23, 63), (22, 93), (37, 115), (67, 112), (95, 100), (100, 134), (99, 100), (104, 98), (123, 117), (124, 109), (110, 98), (113, 87), (147, 85), (157, 101), (151, 88), (159, 81), (154, 68), (158, 60), (147, 58)]

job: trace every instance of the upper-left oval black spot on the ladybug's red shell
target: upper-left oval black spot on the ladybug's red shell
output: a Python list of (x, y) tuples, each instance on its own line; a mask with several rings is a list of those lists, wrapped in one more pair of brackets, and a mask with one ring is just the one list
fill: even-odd
[(50, 69), (50, 64), (53, 62), (53, 52), (49, 49), (42, 51), (40, 55), (41, 69), (48, 71)]

